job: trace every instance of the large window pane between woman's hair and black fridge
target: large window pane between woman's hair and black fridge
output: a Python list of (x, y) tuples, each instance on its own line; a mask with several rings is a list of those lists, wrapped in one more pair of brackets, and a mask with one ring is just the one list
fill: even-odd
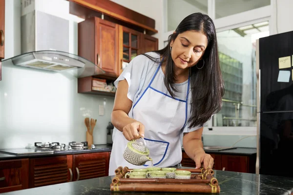
[(213, 126), (256, 126), (255, 40), (267, 36), (267, 21), (217, 33), (225, 95)]

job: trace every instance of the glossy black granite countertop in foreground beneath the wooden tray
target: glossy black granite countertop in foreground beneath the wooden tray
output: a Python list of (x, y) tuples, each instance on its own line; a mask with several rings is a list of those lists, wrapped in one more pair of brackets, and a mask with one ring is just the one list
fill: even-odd
[[(214, 171), (214, 176), (220, 185), (220, 195), (290, 195), (293, 192), (293, 178)], [(112, 177), (43, 186), (1, 195), (183, 195), (183, 193), (111, 192)]]

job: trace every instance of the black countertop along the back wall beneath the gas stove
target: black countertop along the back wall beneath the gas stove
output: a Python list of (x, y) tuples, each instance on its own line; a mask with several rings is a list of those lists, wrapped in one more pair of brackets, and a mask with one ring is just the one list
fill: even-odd
[[(96, 152), (110, 152), (112, 146), (107, 144), (95, 144), (95, 148), (99, 150), (75, 150), (75, 151), (57, 151), (56, 153), (34, 153), (34, 149), (16, 148), (16, 149), (0, 149), (0, 160), (4, 159), (16, 159), (16, 158), (33, 158), (33, 157), (45, 157), (45, 156), (60, 156), (60, 155), (73, 155), (83, 153), (96, 153)], [(17, 155), (17, 153), (25, 153)]]

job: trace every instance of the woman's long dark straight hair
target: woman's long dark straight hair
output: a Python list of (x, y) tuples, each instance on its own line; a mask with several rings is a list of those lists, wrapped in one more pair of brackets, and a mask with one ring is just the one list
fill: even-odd
[[(162, 63), (166, 64), (164, 83), (168, 92), (174, 98), (176, 88), (176, 75), (174, 64), (171, 57), (170, 42), (175, 40), (178, 34), (185, 31), (195, 30), (203, 32), (208, 38), (208, 46), (202, 57), (204, 66), (198, 69), (196, 66), (191, 67), (190, 88), (191, 88), (191, 116), (188, 120), (189, 128), (202, 126), (213, 114), (218, 113), (222, 108), (222, 97), (224, 95), (224, 81), (220, 69), (218, 56), (218, 45), (216, 38), (216, 29), (213, 21), (208, 15), (194, 13), (187, 16), (180, 22), (175, 33), (168, 37), (168, 44), (161, 50), (153, 51), (164, 57)], [(158, 59), (143, 54), (153, 61)], [(201, 65), (200, 65), (201, 67)]]

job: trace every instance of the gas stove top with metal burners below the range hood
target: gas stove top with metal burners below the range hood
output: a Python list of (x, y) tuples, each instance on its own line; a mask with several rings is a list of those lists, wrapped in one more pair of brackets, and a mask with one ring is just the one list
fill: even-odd
[(108, 148), (96, 148), (95, 145), (88, 146), (87, 141), (84, 142), (69, 142), (68, 145), (59, 142), (35, 142), (34, 146), (29, 145), (25, 148), (18, 149), (1, 149), (0, 152), (9, 155), (40, 155), (40, 154), (66, 154), (77, 151), (104, 151)]

